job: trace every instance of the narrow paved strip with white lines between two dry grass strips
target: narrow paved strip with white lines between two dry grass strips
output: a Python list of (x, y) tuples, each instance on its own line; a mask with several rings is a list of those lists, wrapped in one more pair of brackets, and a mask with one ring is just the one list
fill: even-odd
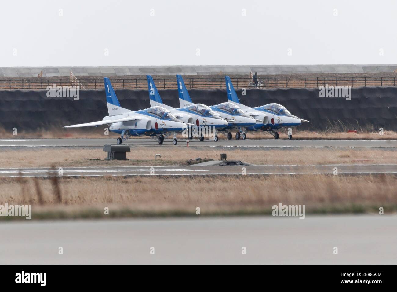
[[(245, 168), (245, 171), (243, 171)], [(23, 176), (147, 176), (147, 175), (253, 175), (253, 174), (377, 174), (397, 173), (397, 164), (254, 165), (254, 166), (116, 166), (62, 168), (0, 168), (0, 177)], [(245, 173), (244, 173), (245, 172)]]

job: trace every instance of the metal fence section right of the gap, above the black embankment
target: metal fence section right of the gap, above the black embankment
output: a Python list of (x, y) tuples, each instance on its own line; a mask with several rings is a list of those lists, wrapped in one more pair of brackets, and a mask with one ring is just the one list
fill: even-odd
[(319, 86), (396, 86), (396, 77), (306, 77), (304, 87)]

